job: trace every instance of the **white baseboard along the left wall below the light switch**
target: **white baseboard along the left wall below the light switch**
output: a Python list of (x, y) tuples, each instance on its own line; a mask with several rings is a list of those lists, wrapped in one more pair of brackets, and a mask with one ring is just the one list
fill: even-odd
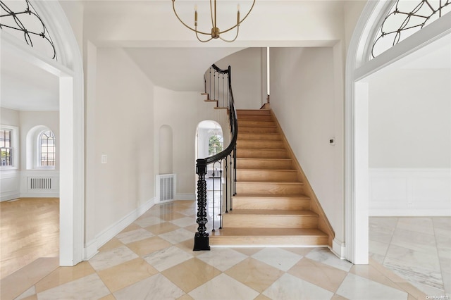
[(149, 208), (152, 208), (154, 204), (155, 199), (150, 199), (146, 203), (137, 207), (131, 213), (128, 213), (128, 215), (125, 215), (125, 217), (123, 217), (121, 220), (118, 220), (116, 223), (106, 228), (106, 230), (100, 232), (99, 235), (97, 235), (94, 239), (87, 242), (85, 244), (85, 254), (84, 254), (85, 261), (89, 260), (89, 258), (92, 258), (92, 256), (96, 255), (97, 252), (99, 252), (101, 246), (103, 246), (110, 239), (118, 235), (118, 233), (124, 230), (125, 227), (135, 222), (137, 218), (140, 218), (140, 216), (146, 211), (148, 211)]

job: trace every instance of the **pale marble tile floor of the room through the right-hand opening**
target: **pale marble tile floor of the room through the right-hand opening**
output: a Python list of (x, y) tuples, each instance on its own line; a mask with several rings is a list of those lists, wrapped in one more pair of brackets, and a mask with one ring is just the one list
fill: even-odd
[(369, 253), (425, 294), (450, 299), (450, 217), (371, 217)]

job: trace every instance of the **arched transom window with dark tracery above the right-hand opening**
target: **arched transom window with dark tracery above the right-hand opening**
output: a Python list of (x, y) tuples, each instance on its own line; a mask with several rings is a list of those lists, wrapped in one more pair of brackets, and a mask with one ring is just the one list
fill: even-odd
[(451, 11), (451, 0), (397, 0), (383, 19), (370, 59)]

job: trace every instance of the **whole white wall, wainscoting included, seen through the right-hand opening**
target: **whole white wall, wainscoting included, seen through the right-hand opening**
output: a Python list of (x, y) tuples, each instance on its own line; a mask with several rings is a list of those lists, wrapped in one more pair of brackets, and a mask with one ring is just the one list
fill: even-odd
[(369, 80), (370, 215), (451, 215), (451, 70)]

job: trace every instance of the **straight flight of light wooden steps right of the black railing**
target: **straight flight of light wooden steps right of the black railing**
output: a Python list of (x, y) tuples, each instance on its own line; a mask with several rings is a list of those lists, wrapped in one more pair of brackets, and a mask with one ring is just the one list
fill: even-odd
[(331, 246), (333, 230), (271, 110), (238, 110), (237, 120), (236, 195), (211, 246)]

